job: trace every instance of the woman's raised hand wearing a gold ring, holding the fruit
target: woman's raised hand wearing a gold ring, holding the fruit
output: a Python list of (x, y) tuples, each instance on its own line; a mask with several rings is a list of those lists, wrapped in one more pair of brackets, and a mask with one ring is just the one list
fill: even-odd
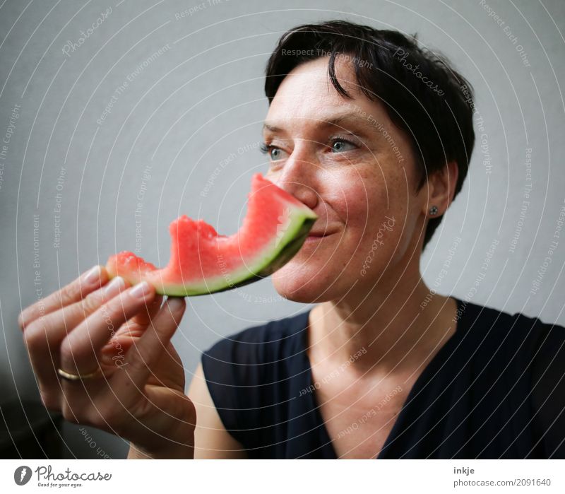
[[(196, 411), (170, 339), (186, 307), (95, 266), (18, 317), (44, 405), (132, 443), (130, 457), (194, 454)], [(57, 368), (94, 377), (70, 381)]]

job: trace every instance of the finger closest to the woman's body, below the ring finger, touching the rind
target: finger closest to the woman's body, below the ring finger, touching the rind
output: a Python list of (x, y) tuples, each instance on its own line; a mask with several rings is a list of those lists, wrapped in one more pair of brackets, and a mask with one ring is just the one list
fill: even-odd
[(167, 351), (169, 341), (181, 322), (186, 302), (184, 298), (168, 298), (153, 318), (147, 331), (138, 339), (129, 352), (120, 372), (112, 376), (112, 388), (123, 401), (132, 399), (143, 391), (145, 382)]

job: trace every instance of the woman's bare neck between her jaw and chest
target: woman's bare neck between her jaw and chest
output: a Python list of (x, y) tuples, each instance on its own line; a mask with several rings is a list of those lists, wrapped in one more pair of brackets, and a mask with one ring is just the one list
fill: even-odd
[(350, 293), (314, 307), (312, 360), (328, 358), (335, 365), (349, 361), (350, 369), (360, 374), (388, 374), (422, 365), (443, 346), (456, 329), (451, 320), (456, 301), (431, 296), (419, 271), (411, 279), (386, 278), (391, 281), (370, 293)]

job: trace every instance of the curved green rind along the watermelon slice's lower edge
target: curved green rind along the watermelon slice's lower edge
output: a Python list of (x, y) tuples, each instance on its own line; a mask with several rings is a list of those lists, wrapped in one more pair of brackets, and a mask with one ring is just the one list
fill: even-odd
[[(219, 293), (254, 283), (270, 276), (295, 256), (317, 219), (318, 216), (310, 210), (305, 211), (304, 208), (291, 207), (288, 228), (278, 240), (276, 247), (273, 247), (273, 245), (265, 247), (263, 254), (254, 257), (256, 261), (253, 264), (249, 263), (237, 271), (226, 272), (216, 278), (205, 279), (197, 284), (172, 285), (158, 281), (151, 281), (151, 283), (155, 286), (157, 293), (171, 297), (209, 295), (210, 293)], [(147, 279), (147, 277), (143, 276), (143, 279)]]

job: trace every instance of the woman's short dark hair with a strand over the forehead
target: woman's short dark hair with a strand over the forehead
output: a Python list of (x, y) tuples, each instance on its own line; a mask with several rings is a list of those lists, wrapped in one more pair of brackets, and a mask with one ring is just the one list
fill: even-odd
[[(288, 30), (270, 55), (265, 93), (269, 105), (283, 79), (306, 61), (329, 56), (328, 76), (344, 98), (352, 98), (335, 76), (335, 59), (347, 55), (359, 89), (380, 100), (391, 121), (405, 132), (420, 171), (418, 192), (427, 177), (454, 160), (458, 165), (455, 197), (467, 176), (472, 148), (473, 90), (446, 57), (420, 47), (417, 35), (379, 30), (345, 20), (304, 24)], [(441, 222), (430, 218), (425, 247)]]

